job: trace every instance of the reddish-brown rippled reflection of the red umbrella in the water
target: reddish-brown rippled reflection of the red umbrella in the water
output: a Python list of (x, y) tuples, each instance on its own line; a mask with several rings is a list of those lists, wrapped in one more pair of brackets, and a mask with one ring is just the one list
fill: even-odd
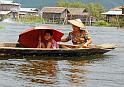
[(29, 64), (19, 66), (19, 73), (30, 78), (33, 83), (53, 84), (56, 76), (56, 62), (52, 60), (26, 60)]

